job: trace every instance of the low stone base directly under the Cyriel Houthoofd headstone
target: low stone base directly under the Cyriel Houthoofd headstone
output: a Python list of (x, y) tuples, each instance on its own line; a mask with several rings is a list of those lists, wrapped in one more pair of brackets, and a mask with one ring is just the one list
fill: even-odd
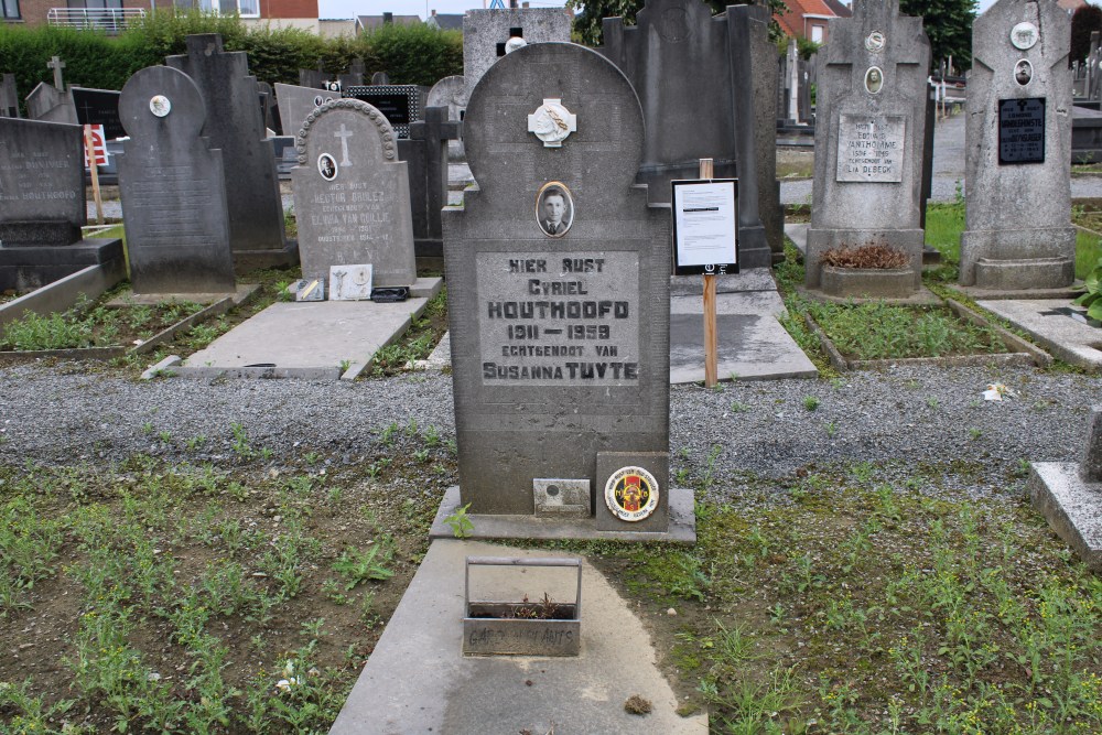
[[(601, 488), (604, 491), (604, 488)], [(605, 539), (608, 541), (665, 541), (667, 543), (696, 542), (696, 515), (693, 510), (692, 490), (669, 490), (670, 525), (666, 531), (604, 531), (597, 528), (596, 518), (548, 518), (534, 515), (467, 514), (474, 525), (472, 539)], [(604, 498), (599, 499), (604, 511)], [(436, 518), (429, 530), (431, 539), (454, 539), (455, 532), (446, 518), (455, 514), (462, 501), (460, 487), (447, 488), (436, 510)]]

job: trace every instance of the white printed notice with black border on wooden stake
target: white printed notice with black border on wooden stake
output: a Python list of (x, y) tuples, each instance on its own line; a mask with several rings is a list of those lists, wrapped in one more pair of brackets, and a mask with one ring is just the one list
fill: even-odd
[(738, 182), (674, 181), (674, 273), (735, 273)]

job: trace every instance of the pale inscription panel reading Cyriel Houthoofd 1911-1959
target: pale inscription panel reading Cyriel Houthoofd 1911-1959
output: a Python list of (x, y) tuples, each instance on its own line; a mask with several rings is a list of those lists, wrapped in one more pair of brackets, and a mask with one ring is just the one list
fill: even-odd
[(486, 386), (639, 385), (637, 252), (479, 252)]

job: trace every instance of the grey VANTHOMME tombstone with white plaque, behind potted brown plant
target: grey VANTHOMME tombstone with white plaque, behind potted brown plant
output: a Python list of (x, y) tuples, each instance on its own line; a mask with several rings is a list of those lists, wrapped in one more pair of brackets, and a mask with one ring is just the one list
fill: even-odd
[(892, 295), (921, 285), (922, 145), (930, 42), (922, 19), (897, 0), (854, 2), (830, 22), (818, 69), (815, 167), (806, 253), (809, 288), (820, 287), (825, 250), (867, 244), (906, 255)]

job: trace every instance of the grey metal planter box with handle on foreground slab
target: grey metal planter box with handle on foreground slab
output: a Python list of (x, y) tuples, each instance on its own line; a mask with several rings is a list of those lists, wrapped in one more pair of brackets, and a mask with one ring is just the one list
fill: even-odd
[[(573, 568), (577, 570), (577, 591), (573, 603), (547, 604), (543, 598), (522, 602), (472, 599), (472, 566)], [(582, 642), (582, 560), (467, 556), (464, 613), (465, 655), (577, 656)]]

